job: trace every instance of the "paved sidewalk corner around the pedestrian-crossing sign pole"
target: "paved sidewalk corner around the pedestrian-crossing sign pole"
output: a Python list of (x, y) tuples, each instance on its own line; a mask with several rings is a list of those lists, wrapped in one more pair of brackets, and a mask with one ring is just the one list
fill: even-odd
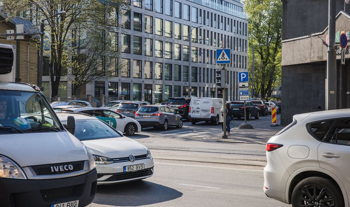
[[(247, 122), (252, 124), (252, 122)], [(277, 124), (280, 124), (279, 122)], [(232, 143), (250, 143), (250, 144), (266, 144), (268, 139), (278, 133), (283, 127), (271, 127), (271, 121), (252, 124), (253, 129), (238, 129), (232, 128), (231, 135), (227, 139), (223, 139), (223, 133), (204, 137), (204, 140), (213, 140), (217, 142), (232, 142)]]

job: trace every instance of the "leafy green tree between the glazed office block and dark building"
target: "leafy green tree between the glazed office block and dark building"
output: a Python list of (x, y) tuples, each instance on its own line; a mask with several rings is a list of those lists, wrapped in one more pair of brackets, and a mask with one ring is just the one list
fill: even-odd
[[(282, 2), (280, 0), (244, 0), (248, 15), (248, 71), (252, 75), (253, 45), (254, 91), (262, 99), (271, 97), (281, 83)], [(251, 77), (250, 77), (251, 80)], [(255, 95), (258, 95), (255, 93)]]

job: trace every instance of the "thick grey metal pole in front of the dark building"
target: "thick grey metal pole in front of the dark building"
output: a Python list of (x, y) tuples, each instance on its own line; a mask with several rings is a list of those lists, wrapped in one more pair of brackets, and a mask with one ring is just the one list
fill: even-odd
[(329, 0), (326, 110), (336, 109), (337, 54), (335, 51), (335, 0)]

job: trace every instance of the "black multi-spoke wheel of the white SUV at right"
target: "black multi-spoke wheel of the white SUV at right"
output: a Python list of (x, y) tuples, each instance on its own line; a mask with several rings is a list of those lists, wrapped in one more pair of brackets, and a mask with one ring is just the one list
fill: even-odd
[(309, 177), (300, 181), (292, 193), (292, 206), (344, 206), (339, 187), (321, 177)]

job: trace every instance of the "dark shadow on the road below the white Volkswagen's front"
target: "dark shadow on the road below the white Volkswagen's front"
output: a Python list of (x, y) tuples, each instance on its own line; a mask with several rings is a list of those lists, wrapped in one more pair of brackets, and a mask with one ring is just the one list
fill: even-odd
[(148, 181), (97, 186), (94, 204), (111, 206), (143, 206), (173, 200), (182, 193)]

